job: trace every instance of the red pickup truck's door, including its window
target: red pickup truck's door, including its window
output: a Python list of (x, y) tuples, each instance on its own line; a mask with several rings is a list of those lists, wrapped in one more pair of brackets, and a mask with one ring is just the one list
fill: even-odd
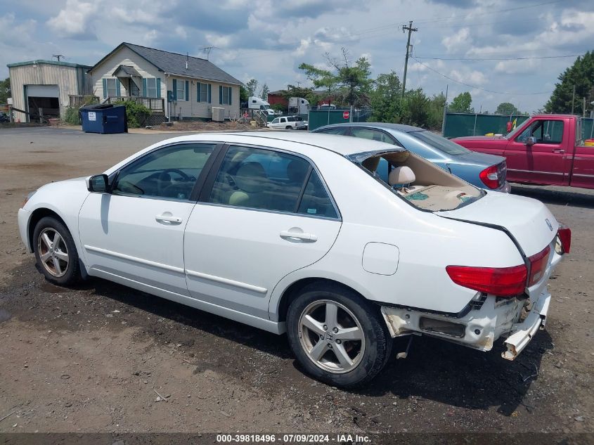
[[(567, 131), (560, 119), (537, 119), (505, 147), (508, 181), (564, 185)], [(536, 143), (527, 145), (529, 137)]]

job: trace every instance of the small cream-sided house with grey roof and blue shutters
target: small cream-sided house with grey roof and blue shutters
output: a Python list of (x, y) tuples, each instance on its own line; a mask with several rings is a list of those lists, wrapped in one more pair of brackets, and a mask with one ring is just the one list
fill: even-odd
[(239, 116), (241, 82), (206, 59), (124, 42), (89, 73), (100, 101), (143, 103), (157, 120), (212, 119), (212, 108)]

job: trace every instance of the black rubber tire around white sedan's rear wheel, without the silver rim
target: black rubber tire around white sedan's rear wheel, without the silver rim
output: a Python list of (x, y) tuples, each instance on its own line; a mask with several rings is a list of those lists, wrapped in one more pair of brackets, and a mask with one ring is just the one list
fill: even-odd
[[(316, 302), (336, 302), (342, 305), (342, 307), (347, 308), (354, 315), (356, 321), (361, 325), (365, 346), (362, 353), (361, 347), (359, 347), (359, 354), (356, 355), (358, 364), (356, 364), (355, 368), (343, 373), (337, 373), (336, 370), (335, 372), (330, 372), (330, 370), (321, 368), (320, 365), (314, 363), (314, 359), (310, 358), (309, 353), (306, 351), (306, 346), (303, 344), (309, 340), (302, 342), (302, 336), (311, 335), (313, 331), (302, 330), (299, 326), (299, 320), (306, 309), (316, 307), (316, 304), (318, 304)], [(343, 309), (338, 310), (343, 311)], [(343, 315), (348, 316), (346, 311)], [(330, 329), (331, 327), (328, 326), (328, 330)], [(311, 283), (302, 290), (289, 306), (287, 331), (291, 349), (306, 373), (317, 380), (336, 387), (354, 388), (366, 385), (380, 373), (392, 351), (392, 337), (389, 335), (385, 321), (380, 318), (379, 308), (356, 292), (343, 288), (340, 285), (332, 285), (331, 283)], [(313, 337), (316, 340), (316, 344), (317, 341), (331, 341), (318, 340), (315, 334)], [(337, 341), (335, 340), (335, 342)], [(346, 346), (347, 341), (344, 342), (343, 347)], [(336, 348), (336, 345), (334, 347)], [(311, 351), (313, 351), (313, 348)], [(330, 352), (331, 357), (332, 352), (330, 350), (328, 352)], [(324, 355), (322, 359), (324, 357), (327, 357), (327, 355)], [(356, 360), (353, 360), (353, 362), (356, 363)]]

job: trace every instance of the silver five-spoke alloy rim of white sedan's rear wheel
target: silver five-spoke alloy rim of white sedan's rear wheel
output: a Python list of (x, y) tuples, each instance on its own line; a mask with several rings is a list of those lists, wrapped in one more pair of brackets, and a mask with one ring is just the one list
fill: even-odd
[(353, 370), (365, 353), (363, 328), (339, 302), (318, 300), (299, 317), (299, 343), (318, 368), (342, 374)]

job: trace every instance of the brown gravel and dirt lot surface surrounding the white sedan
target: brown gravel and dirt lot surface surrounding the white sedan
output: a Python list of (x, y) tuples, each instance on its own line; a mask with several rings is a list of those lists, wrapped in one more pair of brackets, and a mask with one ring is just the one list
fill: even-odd
[(58, 288), (25, 254), (27, 192), (170, 136), (0, 131), (0, 432), (593, 432), (593, 191), (513, 187), (574, 235), (547, 329), (517, 361), (501, 342), (482, 353), (418, 337), (372, 385), (343, 391), (304, 375), (285, 336), (104, 280)]

